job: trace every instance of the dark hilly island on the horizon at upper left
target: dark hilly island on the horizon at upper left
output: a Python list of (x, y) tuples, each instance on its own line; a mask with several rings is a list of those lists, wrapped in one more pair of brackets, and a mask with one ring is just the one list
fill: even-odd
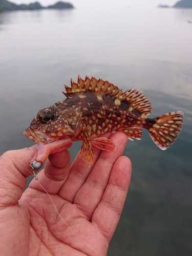
[(7, 0), (0, 0), (0, 11), (16, 11), (16, 10), (40, 10), (40, 9), (72, 9), (74, 8), (70, 3), (57, 2), (54, 5), (48, 7), (41, 6), (38, 2), (31, 3), (29, 5), (21, 4), (16, 5)]

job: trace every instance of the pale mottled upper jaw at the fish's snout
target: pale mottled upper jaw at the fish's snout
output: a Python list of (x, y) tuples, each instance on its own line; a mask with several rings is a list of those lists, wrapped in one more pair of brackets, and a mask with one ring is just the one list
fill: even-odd
[(46, 133), (35, 131), (31, 128), (28, 128), (25, 132), (23, 132), (23, 135), (29, 138), (30, 140), (34, 141), (36, 144), (39, 144), (41, 142), (49, 143), (57, 140), (56, 138), (54, 139), (50, 138)]

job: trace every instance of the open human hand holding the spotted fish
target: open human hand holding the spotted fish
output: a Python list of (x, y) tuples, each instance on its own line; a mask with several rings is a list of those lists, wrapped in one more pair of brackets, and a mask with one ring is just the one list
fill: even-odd
[(65, 150), (50, 155), (37, 175), (68, 226), (35, 179), (23, 193), (34, 151), (0, 157), (1, 255), (106, 255), (131, 179), (131, 162), (122, 156), (126, 136), (106, 136), (115, 151), (94, 148), (91, 167), (80, 154), (70, 166)]

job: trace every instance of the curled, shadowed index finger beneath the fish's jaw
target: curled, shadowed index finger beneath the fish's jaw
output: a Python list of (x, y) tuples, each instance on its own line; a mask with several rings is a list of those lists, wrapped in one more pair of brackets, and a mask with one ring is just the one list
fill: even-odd
[[(37, 175), (39, 183), (48, 193), (58, 193), (69, 175), (70, 162), (71, 156), (68, 150), (63, 150), (49, 156), (45, 168)], [(35, 179), (29, 184), (30, 188), (45, 191), (41, 186), (39, 186)]]

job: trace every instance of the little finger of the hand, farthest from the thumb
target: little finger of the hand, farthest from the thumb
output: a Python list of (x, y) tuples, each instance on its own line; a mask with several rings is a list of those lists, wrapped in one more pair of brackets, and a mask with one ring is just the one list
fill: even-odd
[(92, 217), (92, 222), (109, 242), (120, 219), (130, 181), (131, 161), (121, 156), (113, 166), (109, 184)]

